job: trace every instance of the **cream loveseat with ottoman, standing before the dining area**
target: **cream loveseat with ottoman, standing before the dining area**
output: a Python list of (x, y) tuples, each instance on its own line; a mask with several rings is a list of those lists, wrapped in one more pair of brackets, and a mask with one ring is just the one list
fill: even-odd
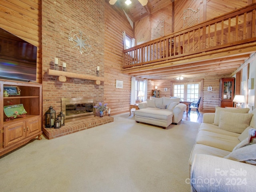
[(139, 110), (134, 112), (135, 121), (166, 128), (182, 120), (186, 107), (180, 103), (180, 98), (150, 97), (138, 104)]

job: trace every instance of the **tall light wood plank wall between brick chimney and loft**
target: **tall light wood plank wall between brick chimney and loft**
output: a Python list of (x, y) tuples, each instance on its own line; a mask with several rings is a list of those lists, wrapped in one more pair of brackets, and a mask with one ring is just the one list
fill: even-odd
[[(114, 6), (105, 2), (104, 101), (111, 108), (111, 114), (128, 112), (130, 108), (131, 76), (122, 74), (123, 31), (134, 37), (124, 12), (114, 10)], [(116, 80), (123, 81), (122, 89), (116, 88)]]

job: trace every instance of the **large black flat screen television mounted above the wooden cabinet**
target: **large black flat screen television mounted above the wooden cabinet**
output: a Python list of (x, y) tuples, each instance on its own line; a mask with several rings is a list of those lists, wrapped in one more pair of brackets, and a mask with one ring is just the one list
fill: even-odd
[(37, 47), (0, 28), (0, 78), (36, 81)]

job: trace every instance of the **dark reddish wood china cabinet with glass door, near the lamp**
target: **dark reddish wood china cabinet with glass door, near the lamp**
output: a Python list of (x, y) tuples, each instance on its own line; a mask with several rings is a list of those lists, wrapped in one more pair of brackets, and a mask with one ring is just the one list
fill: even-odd
[(234, 83), (234, 77), (220, 79), (220, 107), (234, 106)]

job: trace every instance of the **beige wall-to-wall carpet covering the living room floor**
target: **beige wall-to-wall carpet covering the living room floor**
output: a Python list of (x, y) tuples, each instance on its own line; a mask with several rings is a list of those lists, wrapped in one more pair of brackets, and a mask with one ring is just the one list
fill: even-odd
[(189, 192), (188, 159), (199, 123), (166, 130), (114, 122), (35, 140), (0, 158), (2, 192)]

